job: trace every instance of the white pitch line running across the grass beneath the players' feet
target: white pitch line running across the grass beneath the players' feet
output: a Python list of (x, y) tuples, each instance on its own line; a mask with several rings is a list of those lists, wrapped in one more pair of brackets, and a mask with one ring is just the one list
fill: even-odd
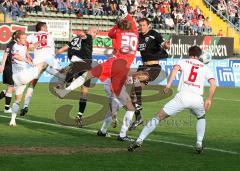
[[(11, 118), (10, 116), (5, 116), (5, 115), (0, 115), (0, 117), (2, 117), (2, 118), (9, 118), (9, 119)], [(26, 122), (30, 122), (30, 123), (41, 124), (41, 125), (48, 125), (48, 126), (54, 126), (54, 127), (60, 127), (60, 128), (74, 129), (74, 130), (79, 130), (79, 131), (87, 132), (87, 133), (97, 133), (96, 130), (91, 130), (91, 129), (86, 129), (86, 128), (76, 128), (76, 127), (72, 127), (72, 126), (64, 126), (64, 125), (59, 125), (59, 124), (54, 124), (54, 123), (34, 121), (34, 120), (29, 120), (29, 119), (24, 119), (24, 118), (17, 118), (17, 120), (26, 121)], [(114, 134), (114, 133), (110, 133), (110, 135), (118, 136), (118, 134)], [(131, 138), (135, 138), (136, 139), (136, 137), (131, 137)], [(152, 141), (152, 142), (158, 142), (158, 143), (164, 143), (164, 144), (171, 144), (171, 145), (176, 145), (176, 146), (183, 146), (183, 147), (193, 148), (192, 145), (183, 144), (183, 143), (177, 143), (177, 142), (171, 142), (171, 141), (163, 141), (163, 140), (154, 140), (154, 139), (146, 139), (146, 140), (147, 141)], [(205, 149), (206, 150), (211, 150), (211, 151), (222, 152), (222, 153), (228, 153), (228, 154), (237, 154), (237, 155), (240, 154), (240, 153), (235, 152), (235, 151), (223, 150), (223, 149), (219, 149), (219, 148), (206, 147)]]

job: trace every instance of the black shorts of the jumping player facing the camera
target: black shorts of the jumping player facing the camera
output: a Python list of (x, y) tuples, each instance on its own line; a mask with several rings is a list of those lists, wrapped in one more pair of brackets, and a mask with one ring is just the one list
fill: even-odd
[(159, 76), (160, 72), (162, 70), (162, 67), (158, 64), (153, 65), (139, 65), (137, 71), (143, 71), (145, 72), (149, 77), (147, 81), (144, 81), (145, 84), (148, 84), (148, 82), (154, 81)]

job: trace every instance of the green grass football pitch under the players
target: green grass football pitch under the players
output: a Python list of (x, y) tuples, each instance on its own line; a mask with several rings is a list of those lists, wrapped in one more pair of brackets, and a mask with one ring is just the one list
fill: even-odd
[[(173, 91), (175, 94), (176, 89)], [(143, 99), (156, 93), (146, 90)], [(74, 98), (79, 96), (77, 93)], [(144, 120), (152, 118), (170, 99), (144, 102)], [(217, 88), (212, 108), (206, 114), (206, 149), (200, 155), (193, 149), (196, 118), (188, 110), (163, 121), (149, 136), (151, 140), (130, 153), (129, 142), (116, 140), (123, 109), (118, 115), (118, 127), (110, 127), (113, 135), (96, 136), (107, 109), (102, 85), (90, 89), (84, 115), (87, 125), (80, 129), (73, 122), (78, 100), (58, 99), (47, 84), (39, 84), (27, 116), (18, 115), (15, 128), (8, 126), (10, 114), (2, 112), (4, 100), (0, 102), (0, 170), (240, 170), (239, 104), (239, 88)], [(136, 138), (142, 128), (128, 134)]]

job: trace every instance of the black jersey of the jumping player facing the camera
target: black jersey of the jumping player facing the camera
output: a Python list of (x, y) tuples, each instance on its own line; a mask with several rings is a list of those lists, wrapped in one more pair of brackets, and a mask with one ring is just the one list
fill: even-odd
[(139, 34), (139, 51), (142, 61), (154, 61), (167, 58), (167, 52), (161, 47), (164, 42), (160, 33), (149, 30), (147, 34)]

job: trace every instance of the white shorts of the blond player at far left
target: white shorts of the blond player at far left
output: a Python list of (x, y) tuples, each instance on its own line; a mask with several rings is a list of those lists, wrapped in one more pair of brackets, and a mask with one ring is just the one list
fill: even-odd
[(16, 95), (23, 94), (26, 85), (34, 79), (38, 78), (38, 68), (30, 67), (21, 72), (13, 74), (14, 88)]

